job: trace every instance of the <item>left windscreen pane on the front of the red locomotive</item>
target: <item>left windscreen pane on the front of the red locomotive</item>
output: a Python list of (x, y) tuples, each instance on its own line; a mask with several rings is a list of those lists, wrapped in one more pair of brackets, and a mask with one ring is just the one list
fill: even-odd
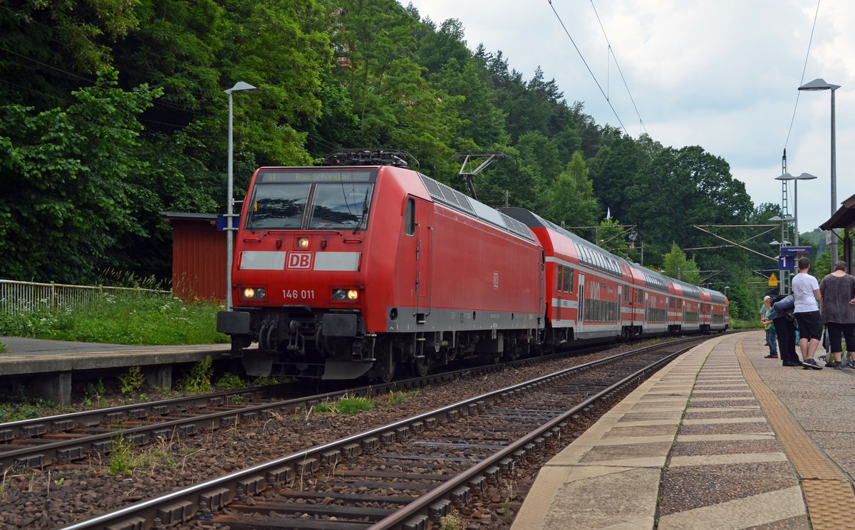
[(246, 215), (246, 227), (299, 228), (309, 197), (309, 187), (308, 184), (256, 185)]

